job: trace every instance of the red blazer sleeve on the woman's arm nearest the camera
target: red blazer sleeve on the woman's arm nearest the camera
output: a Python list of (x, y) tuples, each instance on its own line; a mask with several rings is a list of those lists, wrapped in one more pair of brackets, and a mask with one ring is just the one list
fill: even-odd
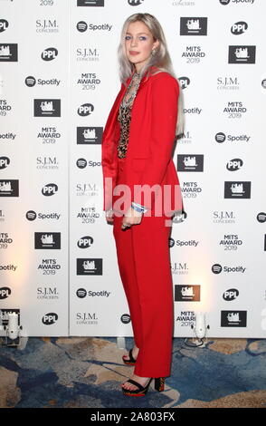
[[(166, 174), (169, 161), (172, 159), (172, 150), (176, 139), (177, 102), (179, 96), (179, 85), (169, 73), (158, 73), (151, 77), (150, 88), (150, 122), (149, 125), (149, 148), (150, 160), (147, 161), (145, 170), (138, 179), (138, 185), (161, 185)], [(137, 183), (137, 182), (135, 182)], [(134, 198), (134, 194), (133, 194)], [(135, 197), (134, 201), (144, 204), (144, 198)], [(147, 208), (152, 208), (154, 198)]]

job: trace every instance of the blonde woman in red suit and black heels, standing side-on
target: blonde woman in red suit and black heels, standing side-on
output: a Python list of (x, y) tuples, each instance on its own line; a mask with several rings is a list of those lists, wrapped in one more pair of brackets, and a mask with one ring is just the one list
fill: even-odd
[(135, 340), (123, 357), (135, 369), (122, 391), (142, 396), (153, 378), (163, 391), (170, 375), (174, 315), (168, 237), (174, 213), (183, 209), (171, 158), (176, 133), (182, 133), (181, 92), (154, 16), (128, 17), (119, 65), (121, 89), (102, 140), (103, 209), (113, 224)]

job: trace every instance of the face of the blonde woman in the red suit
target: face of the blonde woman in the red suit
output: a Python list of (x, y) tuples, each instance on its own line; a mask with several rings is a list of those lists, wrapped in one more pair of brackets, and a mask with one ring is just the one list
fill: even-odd
[(125, 47), (130, 63), (134, 63), (137, 73), (147, 62), (151, 51), (157, 48), (159, 42), (154, 41), (147, 25), (137, 21), (128, 25)]

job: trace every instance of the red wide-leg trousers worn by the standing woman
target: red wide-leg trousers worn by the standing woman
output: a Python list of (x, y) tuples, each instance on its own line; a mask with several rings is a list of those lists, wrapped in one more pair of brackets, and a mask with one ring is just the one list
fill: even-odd
[[(123, 160), (119, 160), (122, 170)], [(122, 182), (119, 173), (119, 183)], [(174, 326), (173, 282), (166, 217), (147, 217), (121, 229), (114, 216), (119, 274), (128, 300), (135, 344), (139, 348), (134, 373), (141, 377), (170, 375)], [(169, 218), (167, 218), (169, 222)]]

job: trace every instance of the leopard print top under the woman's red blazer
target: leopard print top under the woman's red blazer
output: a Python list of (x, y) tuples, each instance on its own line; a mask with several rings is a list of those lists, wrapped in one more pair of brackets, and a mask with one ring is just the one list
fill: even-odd
[(125, 96), (119, 106), (118, 121), (120, 123), (120, 139), (117, 147), (119, 159), (124, 159), (127, 155), (131, 109), (138, 92), (140, 81), (141, 79), (138, 73), (134, 73)]

